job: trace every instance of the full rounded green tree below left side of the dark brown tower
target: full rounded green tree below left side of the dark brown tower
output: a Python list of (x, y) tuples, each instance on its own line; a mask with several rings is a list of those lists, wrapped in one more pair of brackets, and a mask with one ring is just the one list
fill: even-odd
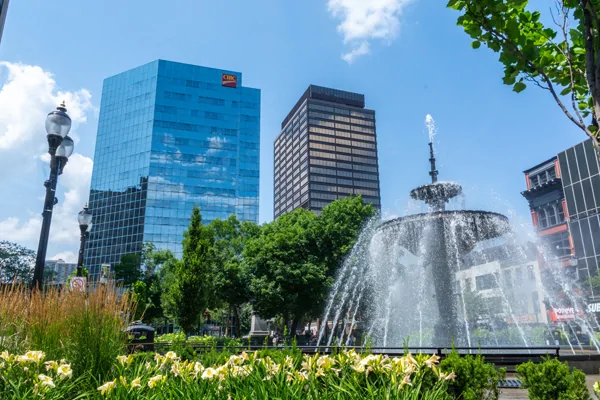
[(264, 318), (281, 315), (295, 334), (299, 321), (321, 311), (332, 278), (320, 257), (319, 218), (303, 208), (279, 217), (248, 240), (253, 307)]

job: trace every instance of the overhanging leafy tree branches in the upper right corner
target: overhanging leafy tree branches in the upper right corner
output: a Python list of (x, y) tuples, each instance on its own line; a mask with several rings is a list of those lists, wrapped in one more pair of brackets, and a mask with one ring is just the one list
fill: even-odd
[[(540, 22), (540, 12), (527, 10), (528, 3), (449, 0), (447, 6), (461, 12), (458, 25), (474, 39), (474, 49), (484, 43), (500, 53), (505, 84), (517, 93), (527, 87), (526, 82), (547, 90), (598, 149), (600, 1), (557, 0), (556, 28)], [(569, 96), (569, 105), (562, 96)]]

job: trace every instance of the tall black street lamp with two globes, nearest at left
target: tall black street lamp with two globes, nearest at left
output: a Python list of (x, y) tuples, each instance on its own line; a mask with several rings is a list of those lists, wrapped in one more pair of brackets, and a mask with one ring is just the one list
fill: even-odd
[(62, 173), (65, 164), (73, 153), (73, 140), (67, 136), (69, 130), (71, 130), (71, 118), (67, 114), (63, 101), (60, 106), (56, 107), (55, 111), (52, 111), (46, 117), (46, 132), (48, 133), (46, 138), (48, 139), (48, 153), (50, 153), (50, 178), (44, 182), (46, 198), (44, 200), (44, 210), (42, 211), (42, 231), (35, 260), (35, 270), (33, 271), (33, 289), (42, 287), (52, 210), (58, 202), (55, 197), (58, 175)]

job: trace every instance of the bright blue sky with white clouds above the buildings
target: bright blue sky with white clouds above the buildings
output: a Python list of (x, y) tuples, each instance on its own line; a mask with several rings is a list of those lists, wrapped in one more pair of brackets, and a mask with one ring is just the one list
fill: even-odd
[[(435, 3), (435, 4), (434, 4)], [(161, 58), (240, 71), (262, 91), (260, 221), (273, 215), (273, 141), (308, 85), (363, 93), (376, 111), (382, 211), (426, 183), (435, 120), (441, 180), (464, 205), (530, 228), (522, 171), (585, 140), (549, 93), (502, 84), (458, 13), (431, 0), (10, 2), (0, 43), (0, 240), (37, 249), (49, 173), (45, 115), (62, 100), (75, 153), (58, 183), (48, 258), (76, 261), (104, 78)], [(550, 0), (532, 0), (548, 10)], [(548, 16), (546, 16), (548, 18)]]

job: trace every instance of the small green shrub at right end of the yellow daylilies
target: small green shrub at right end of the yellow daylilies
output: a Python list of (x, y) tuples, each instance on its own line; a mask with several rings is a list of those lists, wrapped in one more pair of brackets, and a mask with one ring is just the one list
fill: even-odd
[(498, 399), (498, 382), (504, 379), (506, 372), (504, 369), (496, 370), (494, 365), (486, 363), (480, 354), (475, 357), (461, 357), (456, 351), (442, 360), (440, 369), (456, 374), (457, 378), (448, 384), (448, 393), (453, 398), (464, 400)]

